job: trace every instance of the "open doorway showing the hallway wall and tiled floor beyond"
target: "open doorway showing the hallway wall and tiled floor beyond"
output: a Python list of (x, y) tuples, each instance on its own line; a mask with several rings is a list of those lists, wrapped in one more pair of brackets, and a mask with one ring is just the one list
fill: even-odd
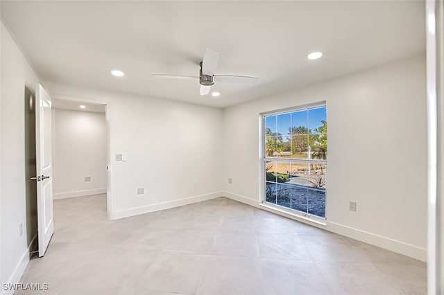
[(53, 239), (58, 242), (71, 241), (71, 229), (85, 221), (107, 220), (105, 113), (106, 105), (53, 99)]

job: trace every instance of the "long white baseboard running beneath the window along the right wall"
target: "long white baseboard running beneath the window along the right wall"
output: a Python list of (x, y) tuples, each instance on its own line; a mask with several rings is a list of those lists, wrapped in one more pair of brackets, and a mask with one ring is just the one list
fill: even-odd
[(361, 231), (360, 229), (355, 229), (350, 226), (345, 226), (343, 224), (338, 224), (336, 222), (330, 222), (327, 220), (327, 225), (322, 226), (316, 224), (314, 222), (309, 222), (308, 220), (302, 220), (297, 216), (285, 214), (280, 211), (275, 211), (272, 208), (264, 208), (263, 206), (259, 206), (259, 202), (248, 197), (244, 197), (241, 195), (237, 195), (230, 192), (224, 192), (224, 197), (228, 197), (230, 199), (234, 199), (237, 202), (241, 202), (244, 204), (248, 204), (253, 207), (261, 208), (262, 210), (270, 211), (276, 213), (278, 215), (282, 215), (284, 217), (288, 217), (293, 220), (297, 220), (298, 222), (304, 222), (306, 224), (310, 224), (311, 226), (319, 227), (320, 229), (325, 229), (327, 231), (332, 231), (333, 233), (338, 233), (339, 235), (345, 235), (348, 238), (352, 238), (355, 240), (359, 240), (362, 242), (366, 242), (368, 244), (373, 244), (374, 246), (381, 247), (383, 249), (393, 251), (396, 253), (400, 253), (405, 256), (409, 256), (411, 258), (415, 258), (421, 261), (427, 261), (427, 249), (417, 247), (412, 244), (407, 244), (398, 240), (393, 240), (391, 238), (386, 238), (382, 235), (376, 235), (374, 233), (368, 233), (367, 231)]

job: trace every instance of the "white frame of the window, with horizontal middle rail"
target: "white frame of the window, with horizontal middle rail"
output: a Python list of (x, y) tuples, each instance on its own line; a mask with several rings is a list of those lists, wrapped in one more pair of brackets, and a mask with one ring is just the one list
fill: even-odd
[[(275, 111), (266, 111), (259, 114), (259, 206), (266, 208), (267, 210), (276, 211), (278, 213), (284, 213), (285, 215), (290, 215), (291, 217), (297, 217), (302, 220), (307, 220), (309, 222), (314, 222), (320, 225), (327, 225), (327, 184), (325, 185), (325, 217), (319, 217), (317, 215), (313, 215), (310, 213), (304, 213), (302, 211), (297, 211), (296, 209), (287, 208), (284, 206), (280, 206), (277, 204), (272, 204), (266, 202), (265, 194), (266, 194), (266, 163), (270, 161), (274, 162), (285, 162), (285, 163), (318, 163), (325, 164), (327, 166), (327, 160), (314, 160), (314, 159), (286, 159), (286, 158), (269, 158), (266, 157), (266, 149), (265, 149), (265, 117), (266, 116), (274, 116), (280, 114), (286, 114), (291, 111), (302, 111), (305, 109), (316, 109), (318, 107), (327, 107), (327, 103), (316, 102), (314, 104), (309, 105), (301, 105), (299, 107), (291, 107), (287, 109), (280, 109)], [(325, 172), (327, 173), (327, 171)]]

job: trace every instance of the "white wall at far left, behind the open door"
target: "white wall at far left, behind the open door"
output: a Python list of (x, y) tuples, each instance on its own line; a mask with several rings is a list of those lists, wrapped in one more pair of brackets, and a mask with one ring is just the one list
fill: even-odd
[(25, 85), (35, 89), (37, 82), (37, 75), (1, 24), (1, 283), (17, 283), (28, 261), (24, 91)]

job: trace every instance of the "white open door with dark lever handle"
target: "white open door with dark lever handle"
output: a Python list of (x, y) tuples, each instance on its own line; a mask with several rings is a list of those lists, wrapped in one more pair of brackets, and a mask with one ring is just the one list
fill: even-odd
[(44, 256), (54, 232), (53, 166), (51, 160), (51, 97), (37, 84), (35, 147), (37, 152), (37, 222), (39, 256)]

